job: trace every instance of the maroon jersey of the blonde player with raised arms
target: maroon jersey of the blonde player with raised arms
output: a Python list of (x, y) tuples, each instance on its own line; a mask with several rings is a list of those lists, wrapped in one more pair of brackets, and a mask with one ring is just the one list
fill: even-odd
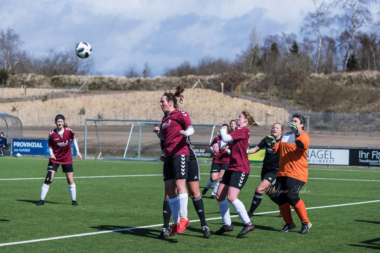
[(232, 141), (230, 142), (231, 158), (227, 170), (242, 171), (249, 174), (249, 128), (246, 126), (237, 127), (230, 133)]

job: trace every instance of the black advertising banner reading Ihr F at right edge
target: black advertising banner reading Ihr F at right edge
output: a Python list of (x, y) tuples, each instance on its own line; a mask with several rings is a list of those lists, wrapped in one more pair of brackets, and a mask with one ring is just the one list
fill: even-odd
[(380, 149), (350, 149), (351, 166), (380, 166)]

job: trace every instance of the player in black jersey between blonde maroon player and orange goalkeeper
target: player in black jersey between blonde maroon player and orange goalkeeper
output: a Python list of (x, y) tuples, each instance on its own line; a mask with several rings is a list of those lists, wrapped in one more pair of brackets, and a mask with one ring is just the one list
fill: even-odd
[[(276, 142), (280, 141), (283, 134), (283, 127), (281, 123), (274, 123), (272, 126), (271, 135), (275, 138)], [(265, 192), (271, 200), (277, 204), (276, 192), (274, 185), (276, 184), (276, 175), (279, 171), (280, 155), (276, 154), (272, 150), (270, 143), (266, 142), (266, 138), (260, 141), (255, 147), (248, 150), (248, 154), (254, 154), (262, 148), (266, 147), (265, 156), (263, 160), (263, 168), (261, 169), (261, 183), (255, 190), (251, 207), (248, 212), (248, 217), (252, 217), (253, 212), (260, 205), (263, 199), (263, 193)], [(280, 216), (281, 217), (281, 216)]]

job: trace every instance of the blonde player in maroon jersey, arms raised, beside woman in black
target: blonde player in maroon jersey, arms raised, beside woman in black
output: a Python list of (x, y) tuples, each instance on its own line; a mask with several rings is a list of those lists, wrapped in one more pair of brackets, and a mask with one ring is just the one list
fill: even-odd
[[(237, 236), (247, 234), (249, 231), (255, 229), (255, 226), (250, 221), (247, 211), (245, 211), (244, 204), (237, 198), (240, 190), (243, 188), (245, 182), (247, 182), (250, 172), (249, 160), (248, 160), (248, 148), (249, 148), (249, 126), (261, 126), (260, 122), (253, 119), (253, 115), (248, 110), (243, 110), (237, 118), (237, 128), (227, 134), (227, 127), (222, 126), (220, 129), (220, 135), (222, 141), (215, 143), (213, 148), (214, 152), (218, 153), (221, 147), (226, 146), (231, 142), (231, 159), (228, 164), (228, 168), (223, 175), (222, 180), (218, 187), (216, 199), (219, 204), (220, 214), (222, 214), (223, 226), (214, 234), (223, 234), (227, 231), (232, 231), (231, 225), (230, 207), (227, 200), (235, 208), (237, 214), (241, 218), (244, 226)], [(226, 200), (227, 197), (227, 200)]]

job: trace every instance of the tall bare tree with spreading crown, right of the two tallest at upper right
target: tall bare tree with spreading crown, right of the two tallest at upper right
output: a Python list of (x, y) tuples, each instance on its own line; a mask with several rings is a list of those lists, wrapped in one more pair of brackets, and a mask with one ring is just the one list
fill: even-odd
[(377, 0), (339, 0), (336, 2), (344, 11), (344, 14), (338, 17), (342, 27), (345, 27), (346, 29), (343, 33), (349, 35), (345, 36), (347, 39), (341, 42), (341, 45), (346, 45), (343, 71), (346, 71), (347, 69), (347, 62), (350, 58), (351, 51), (354, 48), (354, 40), (357, 30), (364, 24), (372, 22), (371, 13), (367, 8), (367, 5), (371, 2), (377, 2)]

